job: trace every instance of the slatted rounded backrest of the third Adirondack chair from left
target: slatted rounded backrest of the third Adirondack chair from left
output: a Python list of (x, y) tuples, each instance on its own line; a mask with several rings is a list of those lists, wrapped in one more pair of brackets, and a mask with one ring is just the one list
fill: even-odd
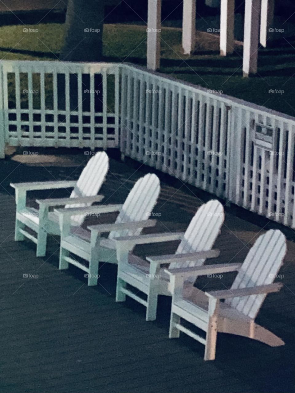
[[(176, 254), (211, 250), (224, 221), (223, 206), (218, 200), (210, 200), (195, 213)], [(205, 259), (186, 263), (170, 263), (169, 268), (201, 266)], [(191, 280), (192, 281), (192, 280)]]

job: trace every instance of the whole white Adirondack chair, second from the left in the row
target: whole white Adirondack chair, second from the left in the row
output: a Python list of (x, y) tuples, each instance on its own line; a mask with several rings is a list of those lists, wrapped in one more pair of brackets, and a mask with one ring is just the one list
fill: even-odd
[[(100, 262), (117, 263), (115, 237), (139, 235), (143, 228), (154, 226), (156, 220), (148, 220), (160, 193), (160, 181), (155, 174), (146, 174), (137, 180), (124, 204), (92, 206), (87, 209), (56, 209), (60, 215), (61, 250), (59, 269), (67, 269), (71, 263), (88, 274), (88, 285), (97, 285)], [(89, 230), (71, 230), (69, 220), (73, 214), (103, 214), (119, 212), (112, 224), (91, 225)], [(109, 237), (101, 237), (109, 232)], [(70, 253), (89, 262), (89, 267), (78, 262)]]

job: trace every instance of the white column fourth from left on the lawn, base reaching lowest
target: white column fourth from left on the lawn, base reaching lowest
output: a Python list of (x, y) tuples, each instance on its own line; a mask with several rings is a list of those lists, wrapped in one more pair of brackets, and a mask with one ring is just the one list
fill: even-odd
[(257, 72), (261, 0), (245, 0), (243, 76)]

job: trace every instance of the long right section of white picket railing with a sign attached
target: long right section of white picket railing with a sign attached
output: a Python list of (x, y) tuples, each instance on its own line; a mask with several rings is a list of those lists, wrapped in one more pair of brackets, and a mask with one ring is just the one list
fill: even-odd
[(123, 154), (295, 228), (295, 118), (134, 67)]

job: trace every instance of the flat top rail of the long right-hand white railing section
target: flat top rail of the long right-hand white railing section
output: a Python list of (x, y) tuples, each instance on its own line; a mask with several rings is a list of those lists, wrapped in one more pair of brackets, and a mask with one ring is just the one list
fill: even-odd
[[(150, 76), (156, 76), (159, 79), (162, 79), (163, 82), (170, 82), (172, 84), (179, 86), (180, 88), (187, 87), (187, 88), (189, 88), (189, 90), (191, 90), (193, 92), (196, 92), (196, 93), (202, 92), (205, 95), (208, 95), (212, 98), (214, 97), (214, 99), (216, 99), (218, 101), (223, 101), (224, 103), (228, 104), (229, 106), (240, 105), (248, 110), (250, 109), (250, 110), (258, 111), (264, 115), (273, 116), (273, 117), (279, 118), (280, 120), (282, 120), (282, 118), (283, 118), (286, 121), (293, 121), (295, 123), (295, 117), (293, 117), (293, 116), (289, 116), (287, 114), (284, 114), (282, 112), (278, 112), (273, 109), (262, 107), (261, 105), (254, 104), (254, 103), (251, 103), (249, 101), (245, 101), (240, 98), (232, 97), (227, 94), (216, 95), (216, 94), (208, 93), (208, 91), (207, 91), (208, 89), (206, 89), (203, 86), (199, 86), (196, 84), (192, 84), (192, 83), (177, 79), (175, 77), (172, 77), (171, 75), (166, 75), (166, 74), (163, 74), (160, 72), (154, 72), (151, 70), (147, 70), (146, 68), (144, 68), (142, 66), (138, 66), (138, 65), (134, 65), (134, 64), (130, 64), (130, 63), (125, 63), (124, 65), (122, 65), (122, 67), (127, 67), (131, 70), (132, 69), (137, 70), (137, 71), (143, 72), (143, 73), (150, 75)], [(214, 90), (214, 89), (210, 89), (210, 90)]]

